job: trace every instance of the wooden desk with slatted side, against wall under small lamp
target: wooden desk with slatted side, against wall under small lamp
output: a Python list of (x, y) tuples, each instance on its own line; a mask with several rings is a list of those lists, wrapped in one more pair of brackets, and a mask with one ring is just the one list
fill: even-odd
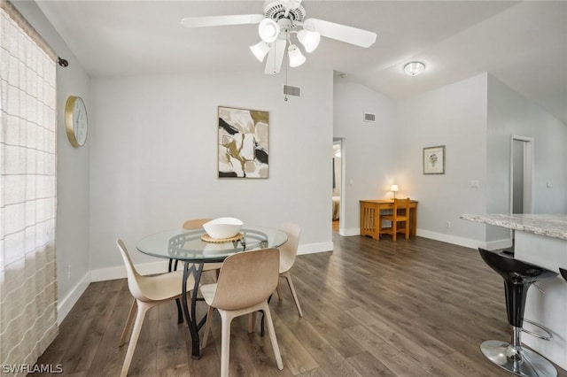
[[(393, 208), (392, 199), (361, 200), (361, 235), (370, 235), (379, 239), (380, 212)], [(409, 202), (409, 234), (416, 235), (417, 227), (417, 201)]]

